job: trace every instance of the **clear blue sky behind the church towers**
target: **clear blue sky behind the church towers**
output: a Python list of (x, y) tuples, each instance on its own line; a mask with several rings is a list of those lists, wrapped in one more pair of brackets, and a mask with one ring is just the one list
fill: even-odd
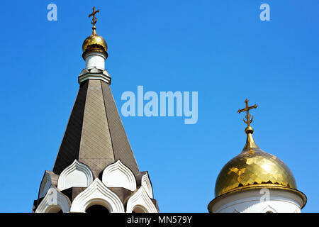
[[(47, 21), (47, 4), (57, 21)], [(259, 20), (270, 6), (271, 21)], [(87, 15), (108, 43), (106, 69), (125, 91), (198, 92), (198, 122), (122, 117), (162, 212), (206, 212), (223, 165), (245, 145), (245, 99), (259, 107), (254, 139), (289, 166), (319, 204), (319, 2), (1, 1), (1, 212), (30, 212), (52, 170), (84, 68)]]

